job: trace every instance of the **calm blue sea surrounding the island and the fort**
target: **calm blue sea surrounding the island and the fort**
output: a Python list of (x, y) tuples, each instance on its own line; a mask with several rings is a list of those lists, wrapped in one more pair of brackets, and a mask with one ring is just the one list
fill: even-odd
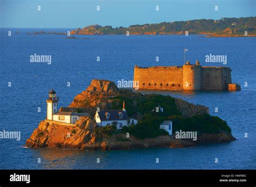
[[(39, 29), (1, 28), (0, 130), (21, 131), (21, 141), (0, 139), (0, 169), (256, 169), (256, 38), (199, 38), (181, 35), (28, 35)], [(15, 32), (19, 31), (20, 34)], [(63, 31), (44, 29), (44, 31)], [(186, 58), (199, 60), (205, 55), (227, 55), (232, 81), (242, 91), (162, 91), (194, 104), (206, 105), (210, 113), (227, 121), (237, 141), (212, 143), (190, 148), (149, 148), (134, 150), (86, 151), (23, 148), (45, 118), (50, 88), (60, 96), (59, 106), (68, 106), (73, 97), (86, 89), (93, 78), (117, 82), (132, 80), (133, 67), (173, 66)], [(52, 64), (30, 63), (30, 55), (52, 55)], [(100, 57), (100, 62), (96, 57)], [(159, 62), (156, 62), (159, 56)], [(164, 75), (163, 75), (164, 76)], [(11, 82), (11, 87), (8, 87)], [(67, 82), (71, 87), (67, 87)], [(248, 87), (244, 87), (244, 82)], [(37, 112), (41, 107), (41, 112)], [(214, 112), (218, 107), (218, 112)], [(244, 138), (248, 133), (248, 138)], [(100, 158), (100, 163), (96, 159)], [(156, 158), (159, 163), (156, 163)], [(37, 163), (38, 158), (41, 163)], [(218, 158), (218, 163), (214, 159)]]

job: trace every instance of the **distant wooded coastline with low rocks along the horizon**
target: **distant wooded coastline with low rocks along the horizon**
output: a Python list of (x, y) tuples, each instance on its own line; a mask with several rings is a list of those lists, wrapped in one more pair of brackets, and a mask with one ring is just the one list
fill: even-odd
[[(28, 32), (28, 34), (32, 34)], [(101, 26), (98, 24), (67, 32), (34, 32), (33, 34), (61, 35), (202, 35), (212, 37), (256, 37), (256, 17), (198, 19), (162, 22), (159, 24), (131, 25), (129, 27)]]

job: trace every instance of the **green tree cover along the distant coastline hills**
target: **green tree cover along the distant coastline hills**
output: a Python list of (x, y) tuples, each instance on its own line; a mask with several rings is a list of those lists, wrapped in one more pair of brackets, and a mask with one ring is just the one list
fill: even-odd
[[(235, 23), (235, 24), (234, 24)], [(130, 27), (112, 26), (95, 26), (95, 29), (102, 34), (125, 34), (130, 33), (144, 34), (147, 32), (156, 32), (156, 34), (177, 34), (188, 31), (190, 34), (198, 33), (217, 33), (224, 34), (226, 28), (231, 28), (234, 34), (244, 35), (256, 34), (256, 17), (246, 18), (223, 18), (219, 20), (213, 19), (196, 19), (188, 21), (162, 22), (159, 24), (131, 25)], [(89, 30), (90, 32), (90, 30)], [(91, 32), (95, 32), (91, 30)]]

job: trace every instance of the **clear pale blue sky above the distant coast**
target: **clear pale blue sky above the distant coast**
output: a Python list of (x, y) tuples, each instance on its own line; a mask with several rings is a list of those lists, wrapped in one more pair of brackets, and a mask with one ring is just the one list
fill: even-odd
[(77, 28), (94, 24), (127, 27), (164, 21), (254, 17), (256, 0), (0, 0), (0, 16), (0, 27), (7, 28)]

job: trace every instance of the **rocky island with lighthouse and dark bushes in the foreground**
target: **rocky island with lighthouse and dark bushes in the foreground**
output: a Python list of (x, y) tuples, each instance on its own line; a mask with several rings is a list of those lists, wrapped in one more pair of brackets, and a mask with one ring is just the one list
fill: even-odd
[[(55, 99), (49, 98), (46, 102), (57, 103), (56, 92), (51, 90), (49, 94)], [(129, 116), (127, 122), (129, 125), (117, 128), (115, 123), (101, 126), (102, 123), (97, 122), (96, 116), (100, 114), (98, 110), (122, 111), (118, 110), (122, 105), (123, 113)], [(156, 107), (161, 107), (163, 110), (157, 112)], [(53, 104), (53, 111), (56, 110), (57, 104), (56, 109)], [(71, 121), (70, 118), (70, 123), (54, 120), (55, 116), (63, 120), (62, 115), (77, 116), (78, 119), (76, 117), (77, 120)], [(235, 140), (227, 123), (218, 117), (210, 116), (206, 106), (194, 105), (170, 96), (143, 95), (131, 89), (118, 89), (114, 82), (106, 80), (92, 80), (89, 87), (78, 94), (69, 107), (61, 107), (52, 116), (52, 120), (50, 120), (51, 116), (47, 116), (39, 123), (30, 138), (26, 140), (27, 147), (102, 150), (173, 148)], [(122, 116), (122, 119), (126, 116)], [(136, 124), (131, 123), (133, 119), (136, 119)], [(159, 124), (167, 120), (172, 121), (172, 135), (159, 128)], [(175, 132), (179, 131), (197, 132), (196, 141), (177, 138)]]

